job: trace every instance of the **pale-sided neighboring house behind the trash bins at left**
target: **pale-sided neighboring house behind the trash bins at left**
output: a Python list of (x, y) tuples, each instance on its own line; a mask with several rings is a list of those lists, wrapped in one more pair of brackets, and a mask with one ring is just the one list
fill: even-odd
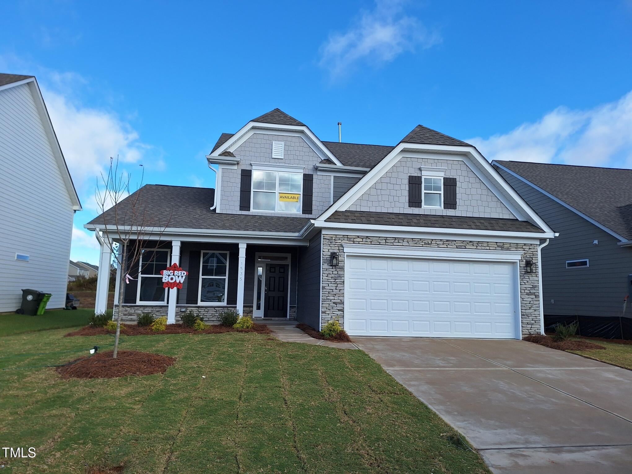
[(0, 312), (20, 307), (22, 289), (66, 304), (73, 181), (33, 76), (0, 74)]

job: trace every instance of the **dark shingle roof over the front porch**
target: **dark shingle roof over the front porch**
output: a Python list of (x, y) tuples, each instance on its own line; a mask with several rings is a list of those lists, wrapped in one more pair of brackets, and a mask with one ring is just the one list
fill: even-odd
[[(210, 210), (214, 193), (212, 188), (145, 185), (117, 205), (116, 217), (119, 225), (130, 225), (138, 195), (137, 214), (145, 217), (145, 227), (297, 233), (310, 221), (304, 217), (220, 214)], [(113, 228), (114, 217), (111, 208), (88, 225)]]

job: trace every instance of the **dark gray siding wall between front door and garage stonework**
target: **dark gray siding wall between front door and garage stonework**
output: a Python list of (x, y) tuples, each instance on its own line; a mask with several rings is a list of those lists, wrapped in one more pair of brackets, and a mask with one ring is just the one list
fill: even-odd
[(296, 286), (296, 320), (319, 329), (320, 320), (320, 233), (310, 239), (308, 247), (298, 250), (300, 273)]

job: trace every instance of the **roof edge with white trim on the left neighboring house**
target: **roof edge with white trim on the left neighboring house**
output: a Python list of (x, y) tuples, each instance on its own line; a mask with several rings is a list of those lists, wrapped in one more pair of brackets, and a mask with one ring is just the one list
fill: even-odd
[(40, 118), (42, 126), (44, 127), (44, 132), (46, 133), (46, 138), (51, 145), (52, 154), (56, 159), (59, 171), (61, 172), (61, 176), (64, 181), (64, 185), (66, 185), (66, 190), (68, 191), (68, 195), (73, 204), (73, 210), (82, 210), (79, 195), (77, 194), (75, 189), (75, 183), (73, 183), (73, 178), (72, 176), (70, 176), (68, 164), (66, 164), (66, 159), (64, 158), (64, 154), (61, 151), (61, 147), (59, 146), (59, 140), (57, 139), (55, 130), (52, 127), (51, 116), (49, 116), (48, 114), (46, 104), (44, 103), (44, 97), (42, 97), (42, 92), (40, 91), (35, 76), (0, 73), (0, 92), (8, 88), (18, 87), (20, 85), (26, 85), (33, 97), (38, 116)]

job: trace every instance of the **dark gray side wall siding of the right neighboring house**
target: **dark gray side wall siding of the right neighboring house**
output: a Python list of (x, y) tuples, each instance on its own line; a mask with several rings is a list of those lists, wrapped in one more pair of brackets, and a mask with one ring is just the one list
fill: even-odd
[[(559, 233), (542, 249), (544, 314), (620, 316), (632, 273), (632, 249), (618, 246), (611, 234), (520, 179), (502, 169), (499, 173)], [(587, 268), (566, 268), (566, 260), (583, 258), (589, 260)]]

